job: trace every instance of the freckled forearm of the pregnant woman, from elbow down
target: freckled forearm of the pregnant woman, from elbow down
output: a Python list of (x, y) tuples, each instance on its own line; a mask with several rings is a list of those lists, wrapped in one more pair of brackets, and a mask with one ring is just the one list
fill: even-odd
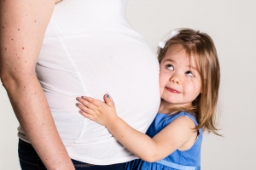
[(37, 78), (3, 82), (20, 126), (47, 169), (73, 169)]

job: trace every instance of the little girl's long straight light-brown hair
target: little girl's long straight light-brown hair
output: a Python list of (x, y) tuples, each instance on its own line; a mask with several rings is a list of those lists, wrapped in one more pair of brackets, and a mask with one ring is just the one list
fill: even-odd
[[(160, 48), (159, 62), (165, 57), (168, 48), (181, 45), (186, 53), (195, 58), (196, 69), (201, 77), (201, 94), (192, 102), (192, 106), (176, 108), (173, 112), (187, 111), (195, 114), (198, 121), (197, 129), (217, 133), (216, 110), (218, 103), (218, 88), (220, 68), (218, 54), (212, 38), (206, 33), (191, 29), (177, 30), (179, 34), (166, 42), (165, 48)], [(172, 113), (173, 113), (172, 112)]]

